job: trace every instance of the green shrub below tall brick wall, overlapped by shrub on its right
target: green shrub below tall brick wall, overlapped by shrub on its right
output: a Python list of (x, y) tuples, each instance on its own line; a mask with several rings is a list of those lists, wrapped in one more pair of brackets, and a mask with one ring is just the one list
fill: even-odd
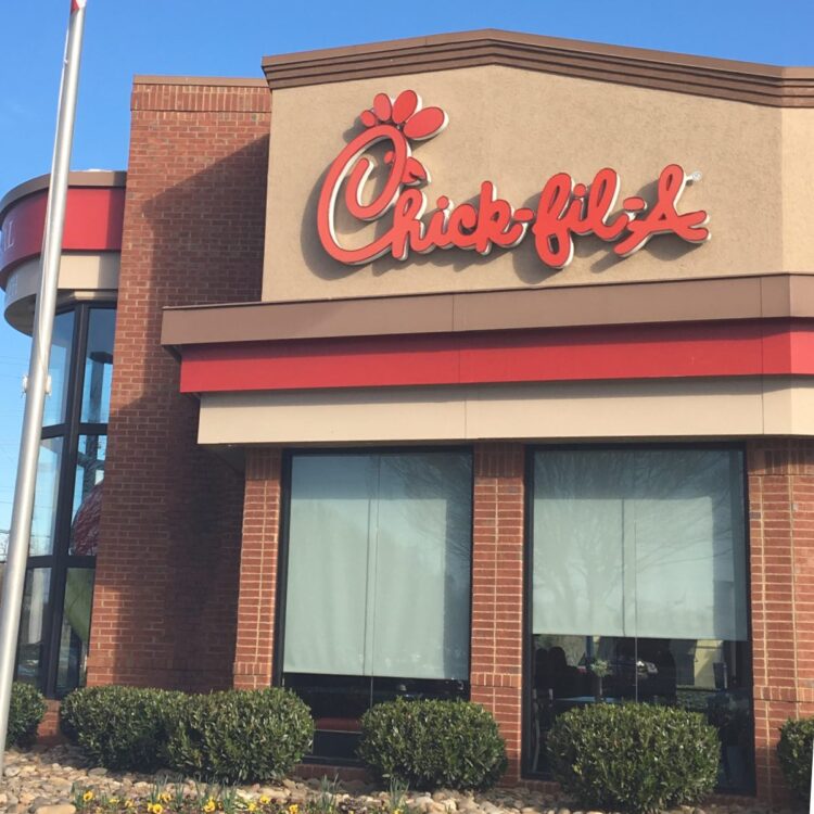
[(86, 687), (66, 696), (60, 725), (94, 763), (154, 772), (165, 764), (167, 725), (183, 695), (138, 687)]

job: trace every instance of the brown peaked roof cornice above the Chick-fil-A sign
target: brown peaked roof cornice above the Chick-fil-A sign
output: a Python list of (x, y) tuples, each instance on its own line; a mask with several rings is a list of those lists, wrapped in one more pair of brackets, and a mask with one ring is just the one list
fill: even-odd
[(485, 29), (266, 56), (269, 87), (504, 65), (775, 107), (814, 107), (814, 67), (779, 67)]

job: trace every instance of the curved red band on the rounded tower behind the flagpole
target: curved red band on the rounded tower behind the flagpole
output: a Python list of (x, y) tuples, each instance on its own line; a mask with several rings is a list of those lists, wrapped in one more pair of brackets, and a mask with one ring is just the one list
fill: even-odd
[[(24, 260), (39, 255), (48, 190), (20, 199), (7, 211), (0, 232), (0, 284)], [(62, 249), (67, 252), (122, 251), (125, 190), (122, 187), (72, 187), (67, 193)]]

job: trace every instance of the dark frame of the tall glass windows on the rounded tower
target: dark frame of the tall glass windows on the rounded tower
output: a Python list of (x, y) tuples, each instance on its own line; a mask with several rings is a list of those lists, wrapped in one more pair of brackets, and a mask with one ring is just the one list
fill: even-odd
[[(115, 301), (73, 302), (58, 308), (56, 314), (73, 311), (74, 334), (71, 343), (68, 371), (66, 379), (65, 415), (63, 421), (48, 424), (40, 430), (40, 440), (61, 437), (63, 444), (62, 460), (58, 475), (56, 507), (54, 510), (53, 546), (51, 554), (28, 557), (26, 572), (37, 568), (51, 570), (48, 594), (48, 614), (42, 628), (42, 654), (38, 689), (46, 698), (63, 698), (68, 691), (59, 690), (56, 686), (60, 661), (60, 644), (65, 605), (67, 572), (71, 569), (96, 570), (96, 556), (69, 554), (71, 525), (74, 509), (74, 486), (76, 466), (79, 453), (79, 438), (82, 435), (107, 436), (107, 423), (82, 422), (82, 393), (85, 389), (85, 352), (88, 343), (90, 316), (93, 310), (116, 310)], [(114, 334), (115, 336), (115, 334)], [(91, 606), (92, 629), (92, 606)], [(14, 675), (17, 674), (20, 648), (15, 656)]]

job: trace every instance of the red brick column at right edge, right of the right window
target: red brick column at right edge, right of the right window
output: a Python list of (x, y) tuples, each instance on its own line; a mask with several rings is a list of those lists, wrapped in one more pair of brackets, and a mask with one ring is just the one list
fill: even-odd
[(788, 801), (779, 727), (814, 715), (814, 443), (748, 445), (758, 796)]

